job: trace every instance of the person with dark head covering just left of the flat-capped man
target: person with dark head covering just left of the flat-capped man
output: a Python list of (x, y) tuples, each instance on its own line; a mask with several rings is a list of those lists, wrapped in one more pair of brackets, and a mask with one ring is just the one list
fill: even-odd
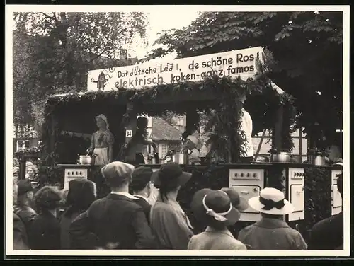
[(70, 249), (70, 224), (77, 216), (86, 212), (91, 203), (96, 199), (96, 185), (91, 180), (86, 178), (76, 178), (69, 182), (69, 191), (65, 204), (67, 210), (62, 214), (60, 221), (61, 227), (61, 248), (64, 250)]

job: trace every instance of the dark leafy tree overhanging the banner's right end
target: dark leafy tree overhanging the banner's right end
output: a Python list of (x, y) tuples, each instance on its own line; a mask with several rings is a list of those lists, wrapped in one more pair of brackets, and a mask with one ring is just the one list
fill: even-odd
[[(295, 97), (297, 122), (319, 122), (327, 139), (342, 127), (342, 12), (204, 12), (188, 27), (161, 33), (146, 60), (262, 46), (273, 54), (268, 76)], [(323, 107), (326, 106), (326, 112)]]

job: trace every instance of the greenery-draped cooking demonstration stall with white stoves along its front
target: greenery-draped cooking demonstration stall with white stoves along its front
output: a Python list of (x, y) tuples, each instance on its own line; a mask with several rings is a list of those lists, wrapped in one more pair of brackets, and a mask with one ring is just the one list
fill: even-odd
[[(261, 48), (258, 48), (247, 51), (256, 51), (256, 58), (261, 54)], [(199, 60), (193, 59), (193, 62)], [(250, 64), (258, 70), (246, 76), (208, 76), (200, 81), (161, 83), (149, 88), (108, 88), (106, 91), (50, 96), (45, 105), (42, 161), (48, 166), (47, 174), (52, 183), (60, 182), (67, 187), (65, 184), (73, 178), (89, 178), (96, 182), (98, 197), (104, 197), (109, 189), (101, 176), (102, 166), (75, 164), (79, 163), (80, 156), (87, 155), (90, 143), (92, 146), (91, 136), (97, 130), (94, 117), (104, 114), (103, 124), (107, 131), (109, 124), (109, 134), (114, 139), (114, 143), (110, 139), (108, 145), (113, 151), (113, 161), (127, 161), (127, 148), (140, 127), (137, 117), (164, 117), (172, 112), (186, 117), (185, 131), (181, 132), (183, 149), (171, 150), (169, 154), (171, 158), (179, 158), (177, 161), (185, 171), (193, 174), (181, 188), (178, 200), (196, 232), (203, 229), (198, 228), (190, 213), (190, 201), (196, 191), (207, 187), (215, 190), (236, 187), (242, 197), (250, 198), (258, 196), (264, 187), (275, 187), (295, 205), (295, 212), (285, 216), (285, 221), (306, 237), (307, 230), (317, 221), (341, 211), (336, 189), (341, 166), (316, 166), (291, 158), (292, 132), (296, 129), (294, 99), (267, 78), (260, 62), (255, 60)], [(135, 67), (139, 68), (139, 65)], [(251, 156), (246, 155), (244, 146), (250, 143), (247, 139), (251, 136), (241, 130), (244, 110), (251, 117), (253, 134), (271, 132), (270, 163), (253, 162), (253, 152)], [(203, 116), (207, 117), (205, 144), (209, 151), (201, 158), (195, 156), (200, 149), (196, 145), (198, 141), (192, 139), (198, 138)], [(188, 138), (191, 146), (184, 149)], [(154, 155), (157, 152), (155, 150)], [(257, 155), (258, 151), (255, 157)], [(160, 164), (141, 159), (145, 163), (135, 161), (135, 166), (143, 164), (153, 170), (160, 167)], [(164, 161), (164, 158), (158, 159)], [(232, 231), (236, 234), (259, 219), (258, 212), (246, 209)]]

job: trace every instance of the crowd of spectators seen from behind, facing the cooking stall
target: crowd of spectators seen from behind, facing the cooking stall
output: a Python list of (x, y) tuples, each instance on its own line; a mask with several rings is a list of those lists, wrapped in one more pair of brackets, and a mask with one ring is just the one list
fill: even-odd
[[(96, 199), (95, 183), (84, 178), (71, 180), (66, 193), (44, 186), (34, 195), (31, 181), (14, 175), (13, 249), (343, 249), (343, 212), (315, 224), (305, 242), (283, 220), (294, 207), (273, 187), (265, 187), (248, 201), (232, 187), (195, 192), (190, 209), (198, 228), (204, 229), (196, 231), (177, 200), (191, 174), (177, 163), (164, 163), (153, 172), (115, 161), (101, 172), (110, 187), (110, 194), (101, 199)], [(152, 202), (155, 187), (159, 193)], [(342, 195), (342, 175), (338, 190)], [(262, 218), (235, 238), (229, 228), (249, 207)]]

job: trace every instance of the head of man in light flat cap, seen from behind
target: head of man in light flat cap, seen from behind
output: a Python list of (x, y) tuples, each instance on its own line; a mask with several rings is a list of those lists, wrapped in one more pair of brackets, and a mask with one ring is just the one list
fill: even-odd
[(108, 163), (101, 169), (105, 183), (112, 191), (128, 190), (133, 171), (134, 166), (120, 161)]

